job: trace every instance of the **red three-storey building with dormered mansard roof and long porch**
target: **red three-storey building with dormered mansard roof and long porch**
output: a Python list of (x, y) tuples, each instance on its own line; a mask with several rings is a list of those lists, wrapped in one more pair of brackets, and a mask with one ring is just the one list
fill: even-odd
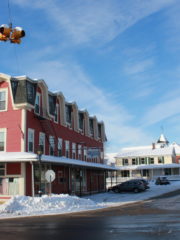
[[(103, 122), (43, 80), (0, 74), (0, 196), (105, 191)], [(37, 155), (40, 149), (42, 155)]]

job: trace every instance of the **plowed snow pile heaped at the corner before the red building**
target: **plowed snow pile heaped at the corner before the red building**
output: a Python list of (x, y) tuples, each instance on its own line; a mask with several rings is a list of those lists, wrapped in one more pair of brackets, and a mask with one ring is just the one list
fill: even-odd
[(87, 209), (100, 208), (90, 199), (69, 196), (68, 194), (45, 195), (42, 197), (15, 196), (0, 206), (0, 216), (3, 215), (39, 215), (78, 212)]

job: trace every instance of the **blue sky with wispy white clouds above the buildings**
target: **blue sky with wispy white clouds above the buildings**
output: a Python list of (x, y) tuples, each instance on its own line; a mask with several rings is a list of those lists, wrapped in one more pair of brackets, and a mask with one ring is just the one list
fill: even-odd
[(44, 79), (103, 120), (108, 152), (151, 144), (162, 126), (180, 142), (178, 0), (10, 0), (10, 7), (26, 37), (0, 43), (0, 72)]

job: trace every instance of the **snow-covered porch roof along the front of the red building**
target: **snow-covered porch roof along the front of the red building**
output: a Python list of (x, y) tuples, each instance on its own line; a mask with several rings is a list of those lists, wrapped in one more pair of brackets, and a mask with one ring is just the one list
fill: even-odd
[[(37, 154), (28, 153), (28, 152), (2, 152), (0, 154), (0, 162), (31, 162), (31, 161), (32, 162), (39, 161)], [(70, 159), (70, 158), (66, 158), (66, 157), (55, 157), (55, 156), (49, 156), (49, 155), (42, 155), (41, 161), (81, 166), (81, 167), (101, 168), (101, 169), (106, 169), (106, 170), (116, 170), (116, 167), (110, 166), (107, 164), (85, 162), (85, 161), (81, 161), (81, 160), (77, 160), (77, 159)]]

